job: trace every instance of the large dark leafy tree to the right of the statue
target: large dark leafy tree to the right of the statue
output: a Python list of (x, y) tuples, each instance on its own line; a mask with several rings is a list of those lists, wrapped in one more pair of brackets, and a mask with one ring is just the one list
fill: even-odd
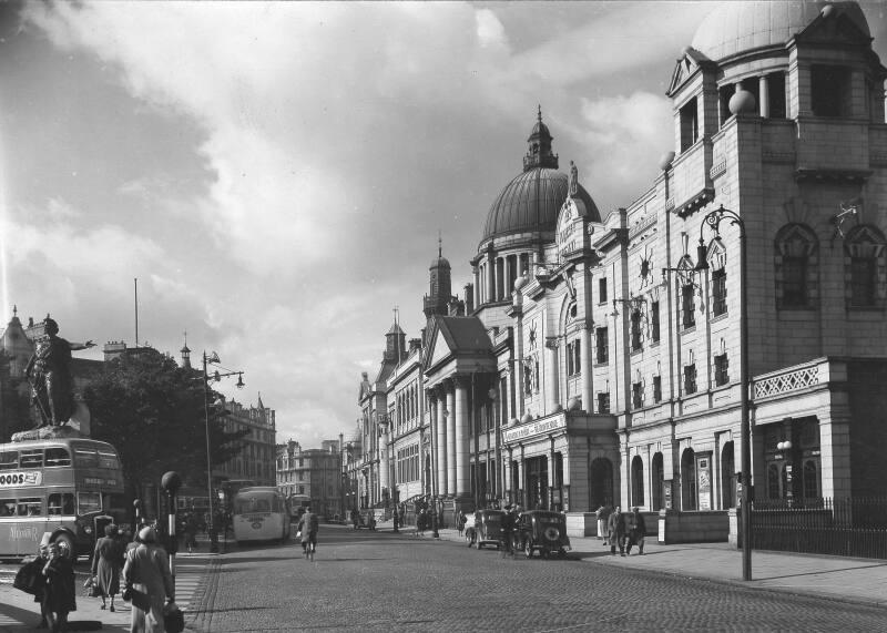
[[(179, 367), (153, 349), (140, 349), (105, 364), (85, 390), (91, 436), (113, 445), (133, 497), (145, 483), (160, 483), (176, 470), (186, 484), (206, 481), (206, 422), (203, 374)], [(217, 394), (210, 391), (210, 400)], [(246, 431), (227, 432), (224, 411), (212, 407), (210, 450), (213, 463), (231, 459)]]

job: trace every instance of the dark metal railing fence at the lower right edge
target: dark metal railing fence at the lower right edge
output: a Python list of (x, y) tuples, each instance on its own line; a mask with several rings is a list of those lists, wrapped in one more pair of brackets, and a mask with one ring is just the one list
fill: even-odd
[(887, 559), (887, 498), (756, 501), (752, 534), (759, 550)]

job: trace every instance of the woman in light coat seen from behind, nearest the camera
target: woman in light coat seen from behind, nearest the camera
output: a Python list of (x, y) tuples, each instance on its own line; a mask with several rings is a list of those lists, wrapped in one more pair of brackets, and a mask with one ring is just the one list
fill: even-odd
[(132, 633), (164, 633), (164, 605), (172, 602), (175, 588), (166, 551), (157, 544), (154, 528), (142, 528), (141, 541), (126, 553), (123, 599), (132, 600)]

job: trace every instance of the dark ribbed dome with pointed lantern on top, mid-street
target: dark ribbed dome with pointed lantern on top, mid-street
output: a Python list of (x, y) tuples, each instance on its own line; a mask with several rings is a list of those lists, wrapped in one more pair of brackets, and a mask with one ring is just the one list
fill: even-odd
[[(569, 176), (558, 171), (558, 156), (551, 152), (551, 134), (542, 123), (542, 113), (527, 140), (523, 173), (518, 174), (496, 197), (487, 213), (483, 238), (514, 233), (553, 232), (569, 190)], [(575, 197), (589, 212), (589, 219), (600, 222), (600, 212), (580, 184)]]

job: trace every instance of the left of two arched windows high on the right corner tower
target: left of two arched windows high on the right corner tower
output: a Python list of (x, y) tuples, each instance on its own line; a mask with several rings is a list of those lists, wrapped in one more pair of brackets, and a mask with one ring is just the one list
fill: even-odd
[(804, 224), (786, 224), (776, 234), (776, 307), (807, 308), (819, 298), (819, 242)]

